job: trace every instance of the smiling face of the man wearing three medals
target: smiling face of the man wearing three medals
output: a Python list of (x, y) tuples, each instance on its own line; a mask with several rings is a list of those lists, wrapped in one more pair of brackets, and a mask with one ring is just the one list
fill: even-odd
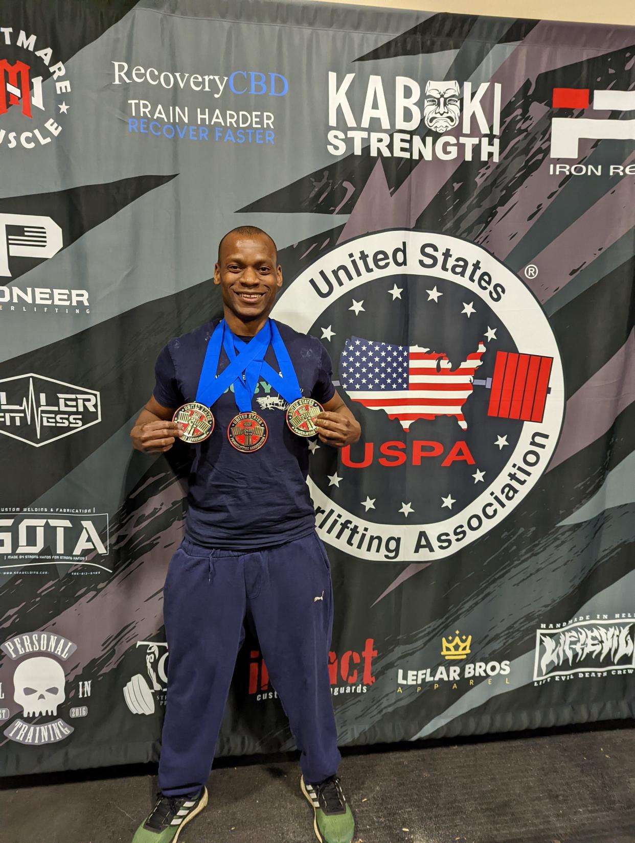
[(272, 240), (264, 234), (229, 234), (214, 266), (214, 283), (220, 285), (225, 307), (239, 319), (267, 316), (283, 286)]

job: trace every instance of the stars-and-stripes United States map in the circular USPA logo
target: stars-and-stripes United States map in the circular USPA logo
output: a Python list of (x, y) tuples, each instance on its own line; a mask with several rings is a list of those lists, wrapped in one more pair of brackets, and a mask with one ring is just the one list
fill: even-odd
[(417, 419), (437, 416), (454, 416), (466, 430), (463, 405), (485, 351), (481, 341), (476, 352), (452, 368), (443, 352), (352, 336), (340, 356), (342, 386), (353, 401), (385, 411), (406, 431)]

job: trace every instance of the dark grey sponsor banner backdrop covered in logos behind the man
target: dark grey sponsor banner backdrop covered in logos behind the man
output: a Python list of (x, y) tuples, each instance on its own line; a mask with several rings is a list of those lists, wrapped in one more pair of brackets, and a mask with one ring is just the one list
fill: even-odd
[[(363, 427), (308, 443), (342, 745), (632, 717), (635, 29), (237, 0), (0, 24), (3, 772), (158, 757), (193, 449), (129, 432), (239, 224)], [(248, 637), (218, 752), (292, 746)]]

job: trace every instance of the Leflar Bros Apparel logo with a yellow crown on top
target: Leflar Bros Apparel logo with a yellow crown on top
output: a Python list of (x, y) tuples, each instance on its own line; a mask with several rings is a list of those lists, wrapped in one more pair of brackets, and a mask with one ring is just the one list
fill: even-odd
[(505, 684), (509, 685), (509, 660), (503, 662), (467, 662), (471, 655), (471, 635), (461, 635), (459, 630), (455, 631), (453, 639), (443, 638), (440, 654), (446, 662), (451, 664), (439, 664), (436, 668), (417, 668), (397, 670), (397, 693), (402, 694), (402, 685), (416, 685), (417, 693), (422, 690), (424, 683), (432, 685), (437, 690), (442, 682), (452, 682), (452, 689), (458, 688), (461, 679), (469, 679), (469, 687), (474, 685), (477, 679), (487, 679), (488, 685), (492, 685), (492, 677), (504, 676)]

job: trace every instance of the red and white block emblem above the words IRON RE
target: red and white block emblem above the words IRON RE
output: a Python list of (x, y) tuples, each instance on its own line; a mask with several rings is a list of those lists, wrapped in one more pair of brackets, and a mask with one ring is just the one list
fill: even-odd
[[(635, 91), (594, 91), (590, 103), (588, 88), (554, 88), (554, 109), (604, 112), (635, 112)], [(552, 158), (578, 158), (581, 140), (635, 141), (635, 118), (608, 120), (601, 117), (553, 117)]]

